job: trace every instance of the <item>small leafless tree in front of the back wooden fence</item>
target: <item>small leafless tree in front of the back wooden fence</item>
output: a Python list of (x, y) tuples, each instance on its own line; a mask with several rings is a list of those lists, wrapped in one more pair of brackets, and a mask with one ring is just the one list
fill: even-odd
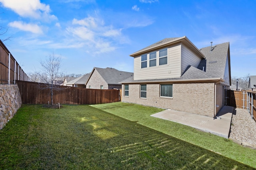
[(46, 57), (45, 61), (40, 61), (42, 71), (37, 72), (42, 83), (48, 84), (46, 88), (50, 89), (51, 104), (53, 105), (53, 90), (59, 90), (58, 86), (54, 85), (54, 80), (58, 79), (61, 75), (61, 56), (56, 56), (54, 52)]

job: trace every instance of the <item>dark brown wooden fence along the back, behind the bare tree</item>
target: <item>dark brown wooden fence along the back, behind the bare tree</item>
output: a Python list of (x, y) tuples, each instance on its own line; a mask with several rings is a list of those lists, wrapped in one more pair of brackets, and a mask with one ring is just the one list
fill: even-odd
[[(22, 104), (48, 104), (51, 101), (47, 84), (16, 81)], [(119, 90), (100, 90), (54, 85), (54, 104), (103, 104), (119, 102)], [(51, 103), (51, 102), (50, 102)]]

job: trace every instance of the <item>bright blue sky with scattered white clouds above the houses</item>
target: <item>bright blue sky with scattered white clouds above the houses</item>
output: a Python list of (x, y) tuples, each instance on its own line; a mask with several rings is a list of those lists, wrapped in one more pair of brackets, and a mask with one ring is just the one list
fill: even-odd
[(23, 70), (62, 57), (66, 74), (93, 67), (133, 72), (129, 55), (164, 38), (198, 48), (230, 42), (231, 76), (256, 75), (255, 0), (0, 0), (0, 39)]

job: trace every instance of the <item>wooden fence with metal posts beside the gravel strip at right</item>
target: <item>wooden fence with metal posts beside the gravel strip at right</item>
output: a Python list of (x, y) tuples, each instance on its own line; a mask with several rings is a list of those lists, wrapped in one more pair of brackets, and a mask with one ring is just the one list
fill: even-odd
[(256, 121), (256, 93), (227, 90), (226, 101), (228, 106), (247, 109)]

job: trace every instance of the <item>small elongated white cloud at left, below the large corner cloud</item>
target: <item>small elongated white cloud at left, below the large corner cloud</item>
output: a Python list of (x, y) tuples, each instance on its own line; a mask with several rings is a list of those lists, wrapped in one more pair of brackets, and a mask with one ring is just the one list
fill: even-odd
[(22, 21), (13, 21), (8, 24), (10, 27), (18, 28), (22, 31), (29, 31), (35, 34), (42, 34), (42, 28), (36, 24), (23, 23)]

